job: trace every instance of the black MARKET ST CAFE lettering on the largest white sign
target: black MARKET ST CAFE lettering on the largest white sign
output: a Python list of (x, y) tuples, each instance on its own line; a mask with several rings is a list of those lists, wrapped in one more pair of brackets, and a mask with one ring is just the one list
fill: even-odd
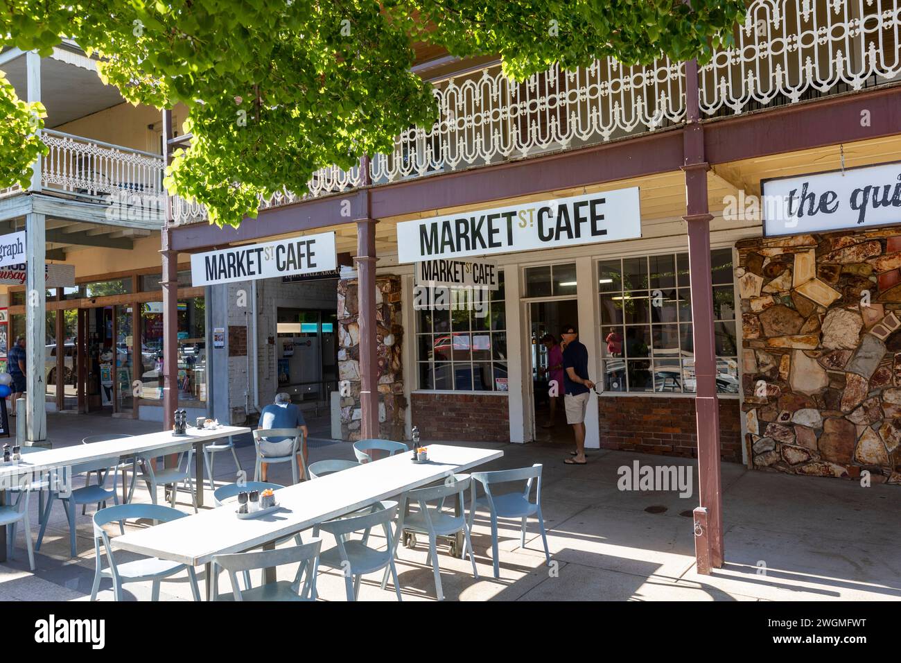
[[(420, 253), (423, 255), (447, 255), (463, 251), (496, 249), (514, 245), (514, 224), (520, 228), (537, 224), (538, 239), (544, 244), (561, 240), (588, 240), (607, 234), (600, 226), (604, 215), (599, 208), (605, 198), (579, 200), (569, 206), (560, 203), (556, 214), (548, 205), (525, 207), (496, 212), (489, 215), (463, 216), (445, 219), (419, 228)], [(570, 218), (570, 207), (572, 210)], [(438, 226), (441, 226), (439, 231)], [(504, 243), (506, 240), (506, 244)]]

